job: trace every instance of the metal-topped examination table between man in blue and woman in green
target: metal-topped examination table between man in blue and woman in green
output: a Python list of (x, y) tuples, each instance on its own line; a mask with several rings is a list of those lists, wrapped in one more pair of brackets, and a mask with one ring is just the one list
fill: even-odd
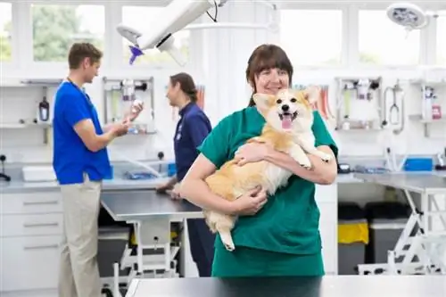
[[(171, 245), (170, 223), (202, 218), (200, 208), (148, 189), (103, 192), (101, 203), (112, 219), (132, 224), (135, 232), (136, 254), (132, 254), (133, 248), (126, 248), (120, 263), (114, 264), (114, 297), (120, 296), (119, 286), (123, 282), (120, 269), (123, 268), (131, 269), (125, 280), (127, 284), (147, 272), (154, 277), (160, 277), (159, 271), (162, 277), (177, 276), (174, 258), (180, 247)], [(184, 234), (182, 239), (184, 242)]]

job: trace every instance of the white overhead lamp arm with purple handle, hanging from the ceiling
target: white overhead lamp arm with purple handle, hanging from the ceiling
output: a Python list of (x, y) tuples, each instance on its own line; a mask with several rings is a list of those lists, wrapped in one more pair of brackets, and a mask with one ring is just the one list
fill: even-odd
[[(256, 1), (261, 4), (267, 4), (274, 12), (277, 12), (275, 4), (269, 4), (268, 1)], [(147, 49), (157, 48), (161, 52), (167, 52), (178, 62), (179, 65), (186, 64), (181, 52), (175, 47), (175, 38), (173, 34), (181, 29), (211, 29), (211, 28), (249, 28), (249, 29), (274, 29), (277, 25), (276, 19), (273, 17), (267, 25), (255, 25), (244, 23), (218, 23), (217, 14), (219, 7), (227, 3), (227, 0), (173, 0), (163, 8), (160, 17), (147, 24), (147, 31), (140, 32), (138, 29), (120, 24), (117, 27), (122, 37), (128, 39), (132, 44), (130, 51), (132, 57), (130, 63), (133, 63), (136, 57), (143, 54)], [(215, 16), (211, 17), (210, 10), (214, 8)], [(189, 25), (197, 20), (203, 13), (207, 13), (213, 23)], [(273, 13), (273, 16), (275, 14)], [(189, 25), (189, 26), (188, 26)]]

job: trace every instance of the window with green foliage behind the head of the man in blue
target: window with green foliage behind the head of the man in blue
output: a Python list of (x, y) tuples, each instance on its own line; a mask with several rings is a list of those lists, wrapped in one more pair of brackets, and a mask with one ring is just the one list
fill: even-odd
[(74, 42), (91, 42), (103, 50), (103, 6), (32, 4), (31, 13), (34, 61), (65, 62)]

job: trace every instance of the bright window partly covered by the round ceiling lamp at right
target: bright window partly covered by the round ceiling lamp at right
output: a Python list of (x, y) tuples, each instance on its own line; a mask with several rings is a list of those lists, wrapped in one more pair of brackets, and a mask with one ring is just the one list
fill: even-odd
[(385, 11), (359, 11), (359, 62), (376, 65), (416, 65), (420, 30), (406, 30)]

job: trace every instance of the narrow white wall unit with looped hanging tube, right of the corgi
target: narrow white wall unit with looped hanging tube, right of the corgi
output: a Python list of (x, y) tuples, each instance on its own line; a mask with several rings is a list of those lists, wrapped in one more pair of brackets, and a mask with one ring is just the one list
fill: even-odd
[[(387, 102), (389, 94), (392, 98), (392, 103)], [(399, 106), (400, 105), (400, 106)], [(401, 109), (400, 109), (401, 108)], [(383, 128), (392, 128), (395, 135), (399, 135), (404, 129), (405, 124), (404, 114), (404, 90), (400, 85), (400, 81), (397, 80), (395, 86), (386, 87), (384, 90), (384, 103), (383, 103)]]

